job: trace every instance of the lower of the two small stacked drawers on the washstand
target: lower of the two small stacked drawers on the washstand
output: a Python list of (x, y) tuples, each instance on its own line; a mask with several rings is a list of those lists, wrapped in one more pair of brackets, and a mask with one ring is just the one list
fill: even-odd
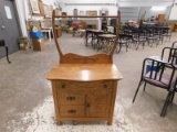
[(84, 112), (84, 106), (60, 106), (60, 116), (63, 118), (82, 118)]

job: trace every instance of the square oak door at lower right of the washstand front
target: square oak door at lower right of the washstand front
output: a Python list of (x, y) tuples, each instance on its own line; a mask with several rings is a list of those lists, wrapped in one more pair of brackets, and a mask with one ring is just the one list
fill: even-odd
[(110, 117), (112, 92), (86, 95), (86, 116), (90, 118)]

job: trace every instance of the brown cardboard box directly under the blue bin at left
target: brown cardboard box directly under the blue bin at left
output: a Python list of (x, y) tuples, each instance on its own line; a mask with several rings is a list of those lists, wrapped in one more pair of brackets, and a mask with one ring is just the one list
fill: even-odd
[(32, 37), (33, 51), (44, 51), (44, 38)]

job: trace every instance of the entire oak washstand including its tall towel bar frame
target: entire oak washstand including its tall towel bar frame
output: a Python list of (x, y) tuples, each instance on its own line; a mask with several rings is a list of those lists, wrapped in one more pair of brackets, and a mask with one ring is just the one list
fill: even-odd
[[(55, 18), (116, 18), (118, 30), (111, 52), (90, 56), (63, 54), (56, 40)], [(117, 81), (123, 78), (113, 64), (119, 34), (119, 11), (117, 15), (96, 16), (63, 16), (55, 15), (53, 11), (52, 24), (60, 64), (53, 66), (46, 78), (52, 84), (56, 124), (61, 124), (61, 121), (107, 121), (111, 125)]]

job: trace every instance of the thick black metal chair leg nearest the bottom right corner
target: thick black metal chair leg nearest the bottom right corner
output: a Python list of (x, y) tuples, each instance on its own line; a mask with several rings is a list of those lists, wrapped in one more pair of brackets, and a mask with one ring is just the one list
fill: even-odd
[(171, 95), (173, 95), (173, 92), (171, 92), (171, 91), (169, 91), (169, 92), (168, 92), (168, 95), (167, 95), (167, 98), (166, 98), (166, 100), (165, 100), (165, 103), (164, 103), (164, 107), (163, 107), (163, 110), (162, 110), (160, 117), (165, 117), (166, 111), (167, 111), (167, 108), (168, 108), (169, 102), (170, 102)]

